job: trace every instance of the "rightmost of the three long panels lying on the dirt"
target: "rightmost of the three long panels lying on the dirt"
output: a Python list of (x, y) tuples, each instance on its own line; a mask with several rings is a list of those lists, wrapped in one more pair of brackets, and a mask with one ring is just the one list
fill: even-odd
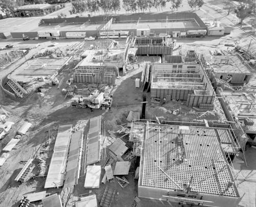
[(100, 161), (100, 130), (101, 116), (90, 119), (90, 128), (87, 137), (86, 165)]

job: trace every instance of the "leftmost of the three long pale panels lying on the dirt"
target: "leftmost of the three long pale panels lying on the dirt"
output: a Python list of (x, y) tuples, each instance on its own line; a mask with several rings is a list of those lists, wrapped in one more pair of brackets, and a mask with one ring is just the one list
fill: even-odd
[(45, 189), (50, 187), (60, 187), (63, 185), (67, 166), (71, 130), (72, 124), (59, 126), (58, 135), (56, 137), (53, 155), (46, 178)]

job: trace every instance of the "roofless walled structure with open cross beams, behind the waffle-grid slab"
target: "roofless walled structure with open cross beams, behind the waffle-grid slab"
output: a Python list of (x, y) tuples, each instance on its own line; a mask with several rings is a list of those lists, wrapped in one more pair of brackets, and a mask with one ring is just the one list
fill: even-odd
[(151, 98), (205, 107), (214, 103), (215, 92), (201, 64), (157, 63), (151, 70)]

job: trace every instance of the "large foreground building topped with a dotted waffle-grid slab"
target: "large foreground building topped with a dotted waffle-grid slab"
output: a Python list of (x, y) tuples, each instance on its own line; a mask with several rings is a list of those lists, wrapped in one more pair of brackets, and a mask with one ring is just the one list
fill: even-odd
[(225, 128), (147, 124), (139, 196), (236, 206), (241, 199), (222, 146), (231, 139)]

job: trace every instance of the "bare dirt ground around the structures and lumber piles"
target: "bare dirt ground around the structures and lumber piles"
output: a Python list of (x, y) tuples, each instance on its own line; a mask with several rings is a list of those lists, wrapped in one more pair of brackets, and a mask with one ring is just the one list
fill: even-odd
[[(239, 39), (239, 37), (234, 37), (233, 39)], [(227, 47), (224, 46), (225, 43), (233, 42), (230, 40), (229, 36), (224, 36), (221, 38), (216, 37), (206, 37), (202, 40), (178, 40), (177, 44), (190, 45), (190, 47), (195, 50), (201, 50), (203, 52), (208, 52), (209, 50), (222, 49), (226, 50)], [(39, 47), (35, 48), (30, 45), (31, 50), (29, 51), (27, 58), (30, 58), (35, 53), (39, 52), (41, 49), (46, 48), (49, 42), (42, 43)], [(74, 42), (60, 42), (60, 48), (66, 48), (74, 44)], [(90, 44), (88, 44), (89, 46)], [(202, 46), (204, 45), (204, 46)], [(27, 46), (24, 46), (27, 47)], [(177, 50), (178, 52), (178, 50)], [(156, 57), (155, 57), (156, 59)], [(153, 57), (139, 57), (138, 62), (132, 64), (134, 66), (130, 68), (129, 73), (126, 76), (122, 76), (120, 79), (116, 80), (116, 84), (113, 86), (113, 105), (110, 112), (104, 110), (94, 110), (91, 112), (90, 109), (77, 109), (70, 106), (70, 99), (65, 99), (61, 94), (62, 88), (67, 88), (66, 81), (71, 77), (73, 73), (73, 68), (76, 61), (72, 61), (70, 65), (62, 69), (62, 71), (57, 76), (58, 80), (65, 77), (60, 89), (55, 87), (45, 86), (47, 88), (46, 93), (31, 93), (30, 96), (23, 100), (12, 99), (7, 96), (4, 91), (0, 90), (0, 105), (10, 113), (8, 121), (15, 122), (15, 126), (10, 131), (9, 134), (5, 136), (4, 139), (0, 141), (0, 154), (3, 154), (3, 148), (6, 144), (15, 136), (16, 130), (22, 125), (24, 121), (32, 123), (32, 127), (29, 129), (27, 135), (15, 146), (14, 149), (9, 153), (7, 161), (0, 167), (0, 206), (18, 206), (20, 199), (22, 199), (24, 194), (44, 191), (45, 178), (40, 176), (45, 176), (47, 174), (47, 167), (50, 163), (52, 156), (52, 149), (54, 147), (54, 141), (57, 135), (58, 125), (73, 124), (74, 129), (84, 129), (84, 134), (88, 132), (88, 123), (90, 118), (102, 115), (102, 123), (105, 124), (106, 131), (112, 130), (115, 132), (120, 129), (120, 124), (127, 123), (126, 117), (129, 112), (138, 111), (141, 112), (143, 97), (147, 97), (148, 103), (146, 104), (145, 119), (155, 120), (155, 116), (159, 120), (166, 121), (213, 121), (218, 122), (220, 120), (225, 121), (223, 111), (220, 109), (220, 104), (218, 100), (215, 103), (215, 110), (206, 112), (203, 111), (191, 111), (190, 107), (185, 106), (182, 101), (169, 101), (164, 106), (160, 106), (159, 102), (150, 99), (149, 93), (145, 95), (143, 93), (142, 85), (140, 88), (135, 87), (135, 79), (141, 78), (142, 73), (142, 62), (152, 61)], [(24, 58), (16, 61), (12, 65), (8, 66), (6, 69), (0, 72), (1, 78), (4, 78), (12, 70), (14, 70), (19, 64), (24, 63), (26, 60)], [(140, 63), (140, 68), (138, 67)], [(255, 86), (255, 68), (252, 68), (252, 78), (248, 85)], [(75, 85), (75, 84), (73, 84)], [(180, 109), (179, 115), (173, 115), (170, 111), (175, 109)], [(0, 110), (0, 114), (4, 111)], [(106, 133), (107, 136), (110, 136)], [(121, 135), (115, 134), (117, 137)], [(50, 138), (50, 139), (49, 139)], [(49, 142), (50, 140), (50, 142)], [(123, 141), (127, 142), (127, 138), (124, 137)], [(129, 142), (127, 142), (129, 144)], [(246, 177), (246, 181), (238, 176), (238, 181), (240, 182), (241, 192), (245, 192), (247, 187), (252, 186), (254, 188), (254, 193), (246, 192), (244, 200), (242, 200), (240, 206), (255, 206), (254, 201), (250, 197), (255, 198), (255, 162), (253, 160), (256, 155), (256, 149), (247, 147), (246, 149), (246, 160), (248, 162), (248, 168), (245, 164), (234, 164), (237, 172), (243, 174)], [(102, 155), (103, 156), (103, 155)], [(240, 155), (239, 157), (243, 157)], [(34, 158), (34, 168), (32, 173), (28, 176), (26, 182), (19, 183), (14, 181), (15, 177), (18, 175), (20, 170), (24, 166), (24, 162), (29, 158)], [(45, 162), (42, 164), (38, 159), (44, 159)], [(121, 186), (115, 182), (107, 182), (106, 184), (100, 184), (100, 189), (93, 190), (93, 193), (97, 195), (98, 202), (100, 201), (103, 191), (106, 185), (113, 186), (119, 195), (115, 196), (113, 203), (114, 207), (119, 206), (131, 206), (133, 204), (134, 197), (138, 195), (137, 192), (137, 180), (134, 179), (134, 172), (138, 164), (138, 160), (133, 158), (131, 160), (132, 167), (130, 168), (129, 175), (126, 179), (130, 182), (129, 185), (122, 189)], [(100, 164), (104, 163), (104, 159)], [(103, 172), (103, 171), (102, 171)], [(33, 177), (34, 175), (40, 175), (39, 177)], [(101, 178), (103, 173), (101, 174)], [(79, 178), (79, 183), (73, 188), (68, 189), (49, 189), (47, 193), (60, 193), (63, 206), (74, 206), (75, 201), (78, 200), (79, 195), (89, 193), (89, 190), (84, 189), (85, 176), (81, 175)], [(242, 196), (242, 195), (241, 195)], [(249, 201), (248, 201), (249, 200)], [(37, 206), (41, 206), (38, 202)], [(137, 204), (137, 207), (142, 206), (168, 206), (169, 203), (165, 201), (157, 201), (151, 199), (141, 198), (141, 202)], [(180, 206), (178, 204), (173, 204), (170, 206)]]

